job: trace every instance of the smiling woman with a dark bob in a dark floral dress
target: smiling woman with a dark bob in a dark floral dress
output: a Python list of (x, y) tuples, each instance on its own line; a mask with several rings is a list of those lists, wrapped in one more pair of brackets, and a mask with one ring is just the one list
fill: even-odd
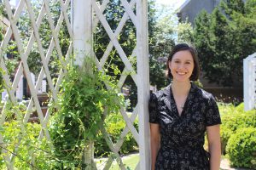
[[(220, 116), (212, 96), (195, 86), (199, 62), (195, 48), (177, 44), (166, 62), (172, 83), (149, 100), (152, 170), (218, 170)], [(207, 132), (209, 153), (204, 150)]]

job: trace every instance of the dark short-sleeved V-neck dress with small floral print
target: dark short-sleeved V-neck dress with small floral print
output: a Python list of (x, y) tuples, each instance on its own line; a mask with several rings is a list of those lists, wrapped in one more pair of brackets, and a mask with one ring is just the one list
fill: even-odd
[(221, 123), (212, 94), (191, 82), (183, 111), (178, 116), (169, 85), (150, 95), (148, 109), (149, 122), (160, 124), (160, 150), (155, 170), (210, 169), (210, 155), (203, 148), (206, 127)]

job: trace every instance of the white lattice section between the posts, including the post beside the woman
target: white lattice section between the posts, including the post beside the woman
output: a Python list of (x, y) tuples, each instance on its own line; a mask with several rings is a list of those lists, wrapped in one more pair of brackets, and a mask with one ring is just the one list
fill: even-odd
[[(124, 70), (122, 71), (121, 77), (119, 78), (119, 88), (121, 88), (124, 85), (125, 79), (128, 76), (127, 72), (130, 73), (133, 81), (137, 85), (137, 95), (138, 95), (138, 103), (136, 106), (136, 109), (133, 111), (131, 117), (127, 116), (125, 113), (125, 109), (121, 108), (120, 112), (121, 115), (124, 117), (124, 120), (126, 122), (126, 127), (123, 130), (123, 132), (120, 134), (120, 138), (117, 141), (116, 144), (113, 144), (113, 142), (110, 140), (109, 135), (105, 129), (105, 127), (101, 127), (102, 133), (104, 134), (104, 137), (107, 141), (107, 144), (109, 148), (113, 151), (113, 155), (116, 156), (117, 161), (119, 162), (119, 167), (121, 169), (125, 169), (125, 165), (122, 162), (121, 157), (119, 156), (119, 150), (121, 148), (121, 145), (124, 142), (125, 135), (130, 131), (136, 139), (137, 144), (140, 148), (140, 161), (137, 164), (137, 169), (149, 169), (150, 163), (149, 163), (149, 127), (148, 127), (148, 89), (149, 89), (149, 74), (148, 74), (148, 34), (147, 34), (147, 1), (143, 0), (131, 0), (130, 3), (128, 3), (126, 0), (120, 0), (121, 5), (125, 8), (125, 13), (122, 17), (122, 19), (119, 21), (119, 24), (115, 31), (111, 29), (111, 27), (108, 25), (108, 21), (106, 20), (106, 17), (104, 16), (103, 12), (106, 7), (108, 7), (108, 3), (110, 3), (109, 0), (103, 0), (102, 3), (97, 3), (96, 0), (89, 0), (87, 1), (86, 5), (87, 8), (91, 8), (92, 14), (90, 15), (87, 13), (87, 16), (91, 17), (92, 21), (89, 21), (88, 23), (92, 23), (92, 28), (87, 27), (87, 32), (93, 31), (96, 29), (96, 26), (98, 23), (101, 23), (104, 27), (105, 31), (108, 34), (108, 37), (110, 39), (110, 42), (108, 43), (108, 47), (105, 50), (102, 58), (98, 60), (96, 59), (96, 64), (99, 70), (102, 70), (105, 63), (108, 60), (108, 57), (112, 51), (113, 48), (115, 48), (119, 54), (120, 59), (125, 65)], [(136, 5), (136, 14), (134, 14), (132, 8)], [(90, 11), (90, 9), (89, 9)], [(131, 61), (127, 58), (127, 54), (125, 54), (123, 48), (121, 47), (118, 37), (122, 29), (124, 29), (125, 22), (127, 20), (131, 20), (133, 25), (136, 27), (136, 37), (137, 37), (137, 44), (135, 48), (132, 51), (131, 56), (137, 56), (137, 72), (134, 70), (134, 68), (131, 65)], [(84, 26), (86, 27), (86, 26)], [(86, 28), (85, 28), (86, 29)], [(87, 41), (87, 43), (91, 41), (91, 34), (88, 34), (89, 36), (84, 41)], [(75, 42), (74, 42), (75, 43)], [(86, 43), (86, 42), (84, 42)], [(90, 45), (89, 45), (90, 47)], [(85, 51), (85, 54), (90, 54), (91, 49), (88, 48), (88, 50)], [(93, 55), (95, 55), (92, 52)], [(138, 78), (140, 77), (140, 78)], [(140, 114), (138, 114), (140, 113)], [(137, 133), (137, 130), (135, 127), (133, 127), (133, 122), (135, 121), (135, 118), (139, 116), (139, 132)], [(109, 156), (106, 167), (104, 169), (108, 169), (113, 162), (113, 156)]]

